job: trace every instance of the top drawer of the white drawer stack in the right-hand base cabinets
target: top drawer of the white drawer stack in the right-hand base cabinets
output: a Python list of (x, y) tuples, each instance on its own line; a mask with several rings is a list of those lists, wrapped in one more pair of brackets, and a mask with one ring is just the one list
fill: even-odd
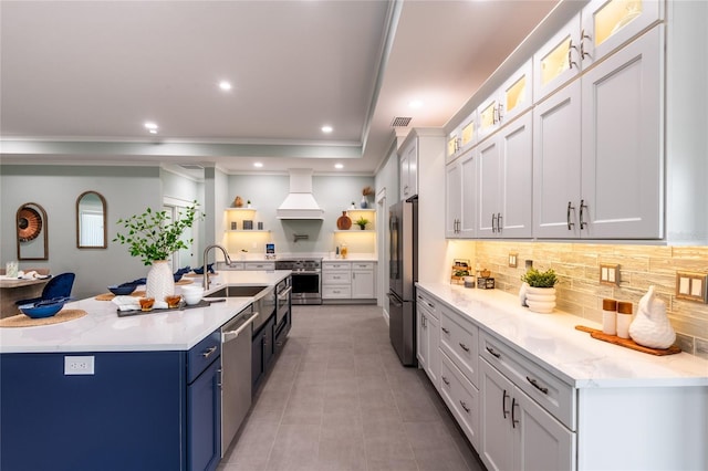
[(478, 385), (479, 329), (446, 305), (438, 305), (440, 312), (440, 349), (475, 386)]

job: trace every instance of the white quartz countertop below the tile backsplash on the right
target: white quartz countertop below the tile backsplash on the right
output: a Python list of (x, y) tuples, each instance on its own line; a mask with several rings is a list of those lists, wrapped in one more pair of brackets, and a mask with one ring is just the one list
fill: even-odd
[(600, 329), (600, 324), (558, 310), (533, 313), (501, 290), (418, 286), (573, 387), (708, 386), (708, 360), (694, 355), (656, 356), (592, 338), (575, 326)]

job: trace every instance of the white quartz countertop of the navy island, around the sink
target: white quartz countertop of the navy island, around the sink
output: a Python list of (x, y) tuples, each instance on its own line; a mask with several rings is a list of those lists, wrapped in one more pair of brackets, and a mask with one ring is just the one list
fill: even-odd
[[(208, 293), (223, 285), (273, 286), (289, 270), (221, 272), (209, 278)], [(200, 283), (202, 278), (192, 278)], [(180, 286), (176, 286), (179, 292)], [(208, 307), (184, 311), (154, 310), (149, 314), (118, 317), (110, 301), (86, 299), (65, 308), (86, 315), (60, 324), (0, 328), (0, 353), (188, 350), (251, 304), (252, 297), (227, 297)]]

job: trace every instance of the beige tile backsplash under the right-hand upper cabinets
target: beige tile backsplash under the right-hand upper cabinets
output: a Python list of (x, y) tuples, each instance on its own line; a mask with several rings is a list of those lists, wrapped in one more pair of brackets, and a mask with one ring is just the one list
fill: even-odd
[[(604, 297), (629, 301), (636, 313), (639, 299), (655, 285), (666, 302), (678, 345), (708, 358), (708, 305), (676, 297), (677, 271), (708, 273), (708, 247), (469, 241), (467, 252), (491, 271), (497, 289), (513, 294), (521, 287), (525, 260), (539, 270), (552, 268), (560, 280), (558, 308), (598, 323)], [(517, 268), (509, 266), (510, 252), (518, 253)], [(620, 265), (618, 285), (600, 283), (601, 264)]]

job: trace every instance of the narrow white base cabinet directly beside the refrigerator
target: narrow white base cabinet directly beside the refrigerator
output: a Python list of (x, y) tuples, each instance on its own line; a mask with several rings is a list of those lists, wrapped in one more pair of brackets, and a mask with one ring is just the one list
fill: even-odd
[(440, 354), (438, 344), (440, 339), (438, 312), (435, 302), (425, 295), (416, 294), (417, 320), (417, 350), (418, 365), (438, 388), (440, 376)]

